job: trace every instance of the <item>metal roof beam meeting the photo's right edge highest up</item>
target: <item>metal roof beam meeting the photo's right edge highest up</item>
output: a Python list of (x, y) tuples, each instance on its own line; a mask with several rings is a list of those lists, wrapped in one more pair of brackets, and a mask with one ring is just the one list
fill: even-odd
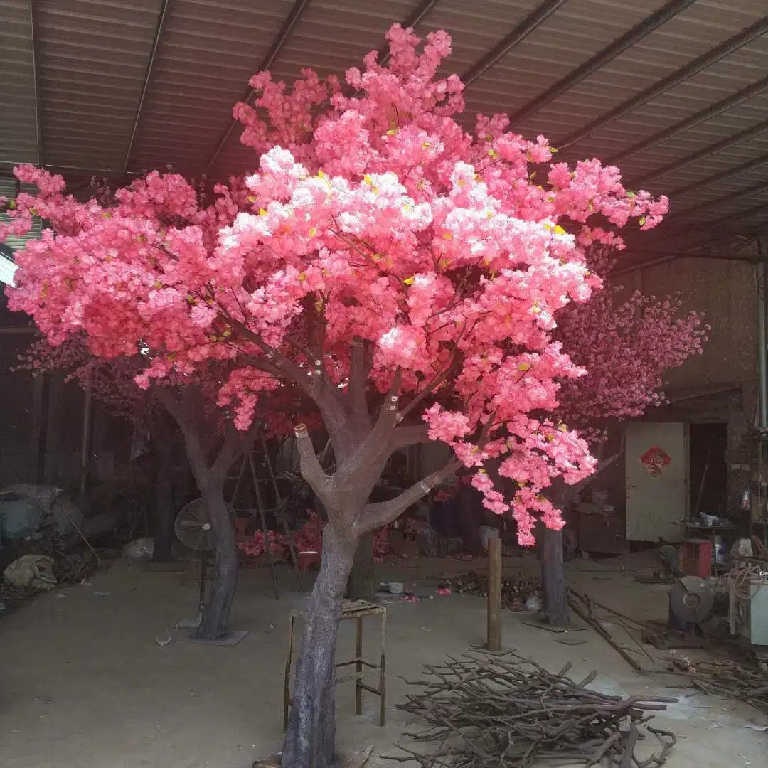
[(721, 58), (733, 53), (733, 51), (738, 51), (739, 48), (743, 48), (755, 38), (759, 38), (760, 35), (764, 35), (766, 32), (768, 32), (768, 16), (763, 16), (763, 18), (753, 25), (740, 31), (738, 35), (733, 35), (732, 38), (720, 43), (720, 45), (710, 48), (707, 53), (695, 58), (694, 61), (690, 61), (684, 67), (680, 67), (672, 74), (667, 75), (666, 78), (650, 85), (632, 98), (622, 101), (621, 104), (618, 104), (611, 111), (606, 112), (599, 118), (591, 121), (591, 123), (579, 128), (578, 131), (574, 131), (572, 134), (564, 137), (562, 141), (554, 142), (554, 146), (562, 150), (573, 146), (573, 144), (576, 144), (578, 141), (583, 141), (585, 138), (597, 133), (607, 125), (623, 118), (624, 115), (629, 114), (638, 107), (642, 107), (643, 104), (653, 101), (654, 98), (657, 98), (661, 94), (670, 91), (675, 86), (684, 83), (692, 78), (694, 74), (698, 74), (703, 69), (710, 67), (716, 61), (720, 61)]

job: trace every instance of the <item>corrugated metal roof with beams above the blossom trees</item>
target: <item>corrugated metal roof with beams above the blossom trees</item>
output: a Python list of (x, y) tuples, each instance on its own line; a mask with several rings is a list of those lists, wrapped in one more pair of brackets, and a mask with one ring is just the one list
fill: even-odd
[(0, 167), (226, 177), (256, 159), (231, 108), (264, 61), (289, 81), (306, 66), (341, 74), (392, 22), (415, 23), (452, 35), (444, 72), (471, 81), (467, 124), (508, 112), (561, 143), (558, 157), (615, 158), (625, 179), (670, 194), (658, 247), (676, 216), (694, 244), (707, 227), (764, 232), (766, 12), (765, 0), (0, 0), (0, 62), (14, 72), (0, 80)]

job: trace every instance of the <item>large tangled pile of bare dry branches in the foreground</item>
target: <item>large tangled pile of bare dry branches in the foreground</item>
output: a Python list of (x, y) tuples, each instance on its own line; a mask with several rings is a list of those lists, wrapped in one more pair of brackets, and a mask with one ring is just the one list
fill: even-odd
[[(652, 768), (667, 760), (673, 733), (647, 721), (648, 710), (664, 710), (670, 698), (606, 696), (565, 677), (571, 664), (552, 674), (534, 661), (465, 654), (442, 666), (425, 667), (428, 680), (411, 682), (422, 690), (400, 705), (418, 717), (422, 730), (406, 737), (436, 742), (422, 753), (398, 745), (422, 768), (527, 768), (539, 760), (583, 762), (585, 766)], [(646, 734), (654, 744), (643, 760), (636, 749)], [(656, 750), (651, 753), (651, 750)]]

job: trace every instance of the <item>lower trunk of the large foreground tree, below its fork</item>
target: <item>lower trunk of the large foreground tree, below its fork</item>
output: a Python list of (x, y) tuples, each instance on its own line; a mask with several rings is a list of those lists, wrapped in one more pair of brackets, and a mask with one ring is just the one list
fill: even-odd
[(331, 768), (336, 743), (336, 634), (357, 540), (329, 521), (323, 564), (306, 609), (283, 768)]

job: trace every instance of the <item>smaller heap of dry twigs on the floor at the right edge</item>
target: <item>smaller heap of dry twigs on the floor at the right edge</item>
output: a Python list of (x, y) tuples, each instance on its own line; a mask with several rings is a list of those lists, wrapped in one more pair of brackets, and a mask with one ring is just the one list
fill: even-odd
[(672, 670), (683, 674), (704, 694), (746, 701), (768, 714), (768, 674), (735, 661), (698, 661), (686, 657), (672, 660)]

